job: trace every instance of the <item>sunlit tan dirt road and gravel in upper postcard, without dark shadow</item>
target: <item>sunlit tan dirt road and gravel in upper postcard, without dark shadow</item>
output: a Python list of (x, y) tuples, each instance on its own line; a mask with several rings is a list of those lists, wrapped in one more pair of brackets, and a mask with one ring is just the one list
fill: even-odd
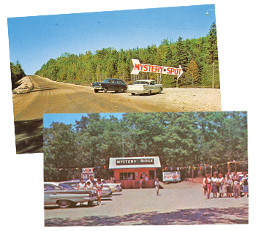
[(223, 109), (223, 89), (165, 88), (162, 94), (94, 93), (88, 86), (56, 83), (32, 76), (34, 89), (14, 96), (16, 121), (42, 118), (43, 113), (129, 113), (216, 111)]

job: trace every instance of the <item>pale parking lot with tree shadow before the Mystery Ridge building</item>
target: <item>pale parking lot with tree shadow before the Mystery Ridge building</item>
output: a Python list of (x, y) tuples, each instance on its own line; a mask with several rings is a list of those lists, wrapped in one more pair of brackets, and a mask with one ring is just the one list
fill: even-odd
[(249, 226), (248, 198), (206, 200), (200, 183), (181, 182), (155, 189), (124, 189), (102, 205), (42, 207), (43, 227)]

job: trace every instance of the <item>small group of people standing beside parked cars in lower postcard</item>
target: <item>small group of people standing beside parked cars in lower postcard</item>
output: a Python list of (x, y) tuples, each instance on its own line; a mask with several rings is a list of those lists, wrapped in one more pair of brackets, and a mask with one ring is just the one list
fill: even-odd
[(83, 179), (80, 179), (80, 183), (78, 183), (78, 189), (95, 189), (97, 190), (98, 194), (98, 205), (102, 204), (102, 189), (103, 184), (100, 178), (97, 178), (97, 183), (94, 182), (94, 177), (91, 175), (89, 177), (89, 180), (86, 181), (86, 183), (83, 181)]

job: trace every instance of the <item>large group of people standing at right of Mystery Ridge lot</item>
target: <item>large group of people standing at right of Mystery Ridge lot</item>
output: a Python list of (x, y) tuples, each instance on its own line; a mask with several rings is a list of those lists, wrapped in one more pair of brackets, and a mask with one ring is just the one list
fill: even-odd
[[(246, 178), (246, 173), (241, 179), (243, 185), (244, 197), (247, 197), (248, 183)], [(233, 172), (232, 174), (227, 173), (225, 177), (222, 173), (214, 173), (214, 176), (211, 177), (211, 174), (206, 174), (203, 178), (203, 189), (205, 199), (210, 199), (211, 192), (213, 193), (214, 198), (224, 197), (224, 194), (227, 194), (227, 197), (241, 197), (240, 194), (240, 176)]]

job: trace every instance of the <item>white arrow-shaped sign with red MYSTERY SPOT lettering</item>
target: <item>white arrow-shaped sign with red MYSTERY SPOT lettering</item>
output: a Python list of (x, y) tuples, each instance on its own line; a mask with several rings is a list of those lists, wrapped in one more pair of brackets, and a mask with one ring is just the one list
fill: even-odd
[(158, 65), (150, 65), (150, 64), (140, 64), (138, 59), (132, 58), (133, 69), (131, 74), (138, 75), (139, 72), (152, 72), (152, 73), (161, 73), (167, 75), (178, 75), (180, 77), (183, 73), (181, 65), (178, 68), (176, 67), (163, 67)]

